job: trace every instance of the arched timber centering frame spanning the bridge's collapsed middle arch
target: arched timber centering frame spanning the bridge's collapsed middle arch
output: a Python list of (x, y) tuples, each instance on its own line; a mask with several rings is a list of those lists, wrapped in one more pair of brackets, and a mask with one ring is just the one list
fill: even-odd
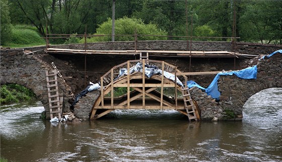
[[(145, 75), (145, 70), (142, 70), (142, 72), (128, 73), (115, 80), (119, 74), (118, 71), (120, 68), (126, 68), (127, 71), (130, 71), (130, 67), (137, 62), (143, 65), (145, 65), (146, 62), (149, 65), (161, 67), (162, 74), (154, 74), (151, 78), (148, 78)], [(90, 119), (98, 119), (115, 109), (176, 110), (188, 116), (189, 121), (191, 119), (199, 119), (199, 113), (192, 99), (190, 98), (191, 101), (188, 102), (187, 97), (178, 98), (178, 92), (180, 92), (180, 94), (182, 92), (183, 94), (183, 91), (185, 91), (184, 94), (190, 95), (187, 84), (184, 84), (184, 87), (182, 87), (173, 80), (164, 77), (163, 71), (165, 70), (174, 74), (174, 80), (177, 80), (177, 76), (180, 76), (179, 78), (182, 79), (180, 80), (187, 83), (187, 77), (179, 71), (176, 66), (164, 61), (148, 59), (129, 60), (114, 66), (101, 77), (101, 95), (97, 98), (92, 107)], [(114, 88), (120, 87), (127, 88), (126, 94), (114, 97)], [(164, 94), (164, 89), (166, 88), (174, 89), (174, 98)], [(160, 90), (160, 92), (158, 90)]]

